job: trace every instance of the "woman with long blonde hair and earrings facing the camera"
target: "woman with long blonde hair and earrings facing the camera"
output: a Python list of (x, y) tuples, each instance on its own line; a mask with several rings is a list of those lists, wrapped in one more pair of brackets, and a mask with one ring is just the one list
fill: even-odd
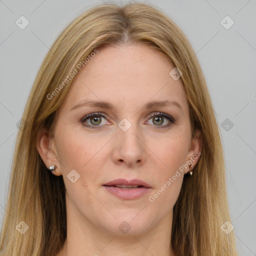
[(72, 21), (22, 119), (1, 255), (236, 255), (206, 82), (152, 5)]

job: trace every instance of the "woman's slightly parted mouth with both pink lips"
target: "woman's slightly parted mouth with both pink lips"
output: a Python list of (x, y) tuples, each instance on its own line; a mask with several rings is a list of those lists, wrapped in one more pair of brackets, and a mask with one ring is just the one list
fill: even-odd
[(109, 193), (125, 200), (136, 199), (152, 190), (148, 183), (139, 179), (115, 179), (103, 186)]

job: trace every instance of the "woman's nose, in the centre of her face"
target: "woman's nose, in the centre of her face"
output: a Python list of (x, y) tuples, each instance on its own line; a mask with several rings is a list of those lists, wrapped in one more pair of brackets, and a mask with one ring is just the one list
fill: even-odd
[(126, 131), (121, 129), (117, 131), (112, 153), (115, 163), (136, 167), (145, 162), (146, 145), (135, 126), (135, 124), (132, 124)]

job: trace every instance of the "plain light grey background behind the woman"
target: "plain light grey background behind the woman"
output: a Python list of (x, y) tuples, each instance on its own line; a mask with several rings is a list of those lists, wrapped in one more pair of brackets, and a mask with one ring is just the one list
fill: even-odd
[[(0, 0), (0, 225), (16, 123), (39, 66), (60, 31), (83, 10), (99, 2), (103, 1)], [(256, 255), (256, 2), (146, 2), (159, 6), (179, 25), (196, 52), (221, 129), (237, 247), (240, 255)], [(21, 15), (29, 21), (24, 29), (15, 24)], [(229, 29), (220, 23), (226, 15), (234, 21)], [(226, 118), (227, 123), (223, 122)]]

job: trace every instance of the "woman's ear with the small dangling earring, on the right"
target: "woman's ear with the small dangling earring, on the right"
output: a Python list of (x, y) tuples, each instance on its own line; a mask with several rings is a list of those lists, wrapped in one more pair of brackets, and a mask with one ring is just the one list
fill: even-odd
[[(202, 149), (202, 132), (200, 129), (195, 129), (194, 135), (190, 142), (188, 158), (186, 162), (191, 163), (193, 166), (195, 166), (201, 155), (201, 149)], [(187, 170), (185, 173), (189, 171), (189, 168), (186, 168), (186, 169)]]

